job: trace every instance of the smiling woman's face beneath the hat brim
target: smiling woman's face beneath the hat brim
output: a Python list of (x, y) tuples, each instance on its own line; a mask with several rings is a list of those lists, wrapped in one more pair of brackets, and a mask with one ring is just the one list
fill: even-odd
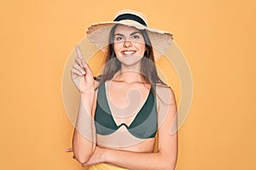
[(131, 26), (117, 26), (113, 37), (113, 50), (123, 65), (136, 65), (146, 50), (142, 33)]

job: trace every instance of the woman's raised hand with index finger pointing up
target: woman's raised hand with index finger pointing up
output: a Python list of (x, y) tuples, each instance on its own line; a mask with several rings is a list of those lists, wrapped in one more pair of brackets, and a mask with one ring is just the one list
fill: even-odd
[(76, 45), (75, 48), (78, 56), (70, 73), (76, 88), (79, 89), (81, 94), (84, 94), (95, 89), (95, 82), (90, 67), (85, 63), (79, 46)]

